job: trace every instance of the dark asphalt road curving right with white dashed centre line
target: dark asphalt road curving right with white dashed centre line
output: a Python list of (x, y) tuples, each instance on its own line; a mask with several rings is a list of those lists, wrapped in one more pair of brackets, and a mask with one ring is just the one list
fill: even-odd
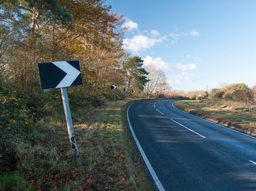
[(144, 100), (127, 111), (158, 188), (256, 190), (256, 139), (186, 114), (173, 102)]

